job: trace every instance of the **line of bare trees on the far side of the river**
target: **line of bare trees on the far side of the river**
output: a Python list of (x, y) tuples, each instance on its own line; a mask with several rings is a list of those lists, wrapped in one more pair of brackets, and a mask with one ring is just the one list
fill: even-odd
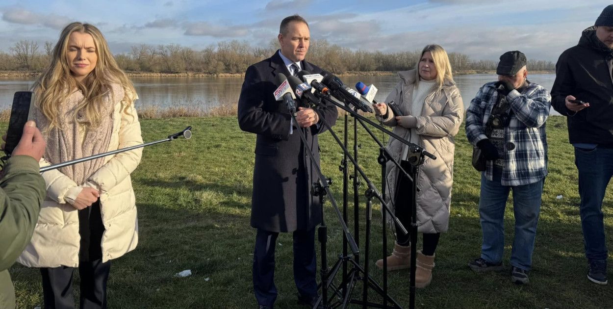
[[(156, 73), (243, 73), (257, 61), (268, 58), (279, 48), (276, 39), (266, 47), (254, 47), (247, 41), (227, 40), (193, 50), (179, 44), (134, 45), (129, 53), (115, 55), (119, 66), (127, 72)], [(9, 52), (0, 51), (1, 71), (40, 71), (47, 65), (52, 42), (40, 48), (36, 42), (21, 40)], [(412, 69), (420, 50), (411, 52), (367, 52), (330, 44), (327, 40), (311, 40), (307, 59), (335, 74), (357, 71), (403, 71)], [(452, 69), (457, 71), (495, 71), (498, 61), (474, 60), (463, 53), (449, 53)], [(554, 71), (552, 61), (529, 60), (530, 71)]]

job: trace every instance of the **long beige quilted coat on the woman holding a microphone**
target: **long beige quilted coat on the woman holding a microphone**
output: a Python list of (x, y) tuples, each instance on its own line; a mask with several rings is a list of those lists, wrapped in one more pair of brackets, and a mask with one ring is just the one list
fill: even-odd
[[(404, 115), (410, 115), (413, 105), (413, 90), (416, 71), (398, 72), (400, 81), (387, 96), (385, 102), (394, 100)], [(409, 140), (410, 130), (397, 126), (395, 115), (388, 109), (387, 118), (383, 119), (386, 126), (394, 126), (393, 132)], [(446, 81), (443, 89), (436, 88), (425, 97), (424, 108), (417, 116), (417, 134), (419, 145), (436, 156), (436, 160), (425, 158), (418, 177), (421, 191), (417, 193), (417, 224), (418, 232), (446, 232), (449, 227), (449, 207), (451, 205), (451, 186), (454, 171), (454, 136), (460, 129), (464, 116), (464, 107), (460, 91), (452, 81)], [(377, 116), (381, 121), (381, 116)], [(390, 137), (387, 149), (400, 162), (403, 148), (402, 142)], [(395, 196), (398, 169), (394, 162), (387, 162), (386, 199)], [(409, 189), (409, 188), (406, 188)], [(392, 203), (390, 203), (392, 206)], [(389, 217), (388, 217), (389, 218)]]

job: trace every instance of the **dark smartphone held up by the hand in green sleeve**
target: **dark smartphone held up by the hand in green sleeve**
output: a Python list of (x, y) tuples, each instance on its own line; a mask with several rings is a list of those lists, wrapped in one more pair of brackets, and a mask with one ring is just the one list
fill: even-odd
[(34, 93), (32, 91), (17, 91), (13, 96), (13, 105), (10, 108), (9, 129), (6, 132), (4, 153), (10, 156), (23, 134), (23, 126), (31, 118)]

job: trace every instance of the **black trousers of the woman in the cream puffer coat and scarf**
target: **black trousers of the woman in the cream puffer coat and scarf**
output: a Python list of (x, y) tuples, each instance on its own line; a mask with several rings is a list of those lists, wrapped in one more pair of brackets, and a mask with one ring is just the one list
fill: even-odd
[[(107, 308), (107, 280), (111, 262), (102, 262), (100, 200), (78, 211), (81, 236), (78, 272), (81, 277), (81, 309)], [(74, 267), (42, 268), (42, 290), (45, 309), (74, 309), (72, 272)]]

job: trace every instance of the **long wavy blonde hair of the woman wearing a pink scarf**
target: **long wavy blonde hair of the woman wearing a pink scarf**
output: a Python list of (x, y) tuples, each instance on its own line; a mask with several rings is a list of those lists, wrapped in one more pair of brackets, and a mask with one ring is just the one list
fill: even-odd
[[(67, 50), (72, 32), (91, 35), (96, 47), (96, 67), (81, 82), (72, 76), (68, 63)], [(64, 27), (51, 52), (50, 63), (32, 86), (37, 97), (37, 107), (49, 121), (49, 127), (46, 129), (61, 129), (61, 123), (58, 121), (58, 105), (66, 102), (67, 97), (77, 90), (82, 91), (84, 99), (75, 109), (75, 121), (78, 112), (83, 110), (85, 125), (90, 128), (99, 126), (102, 121), (102, 99), (107, 91), (112, 91), (112, 83), (118, 83), (123, 87), (123, 112), (128, 113), (129, 107), (134, 103), (136, 91), (110, 53), (102, 32), (88, 23), (75, 22)]]

